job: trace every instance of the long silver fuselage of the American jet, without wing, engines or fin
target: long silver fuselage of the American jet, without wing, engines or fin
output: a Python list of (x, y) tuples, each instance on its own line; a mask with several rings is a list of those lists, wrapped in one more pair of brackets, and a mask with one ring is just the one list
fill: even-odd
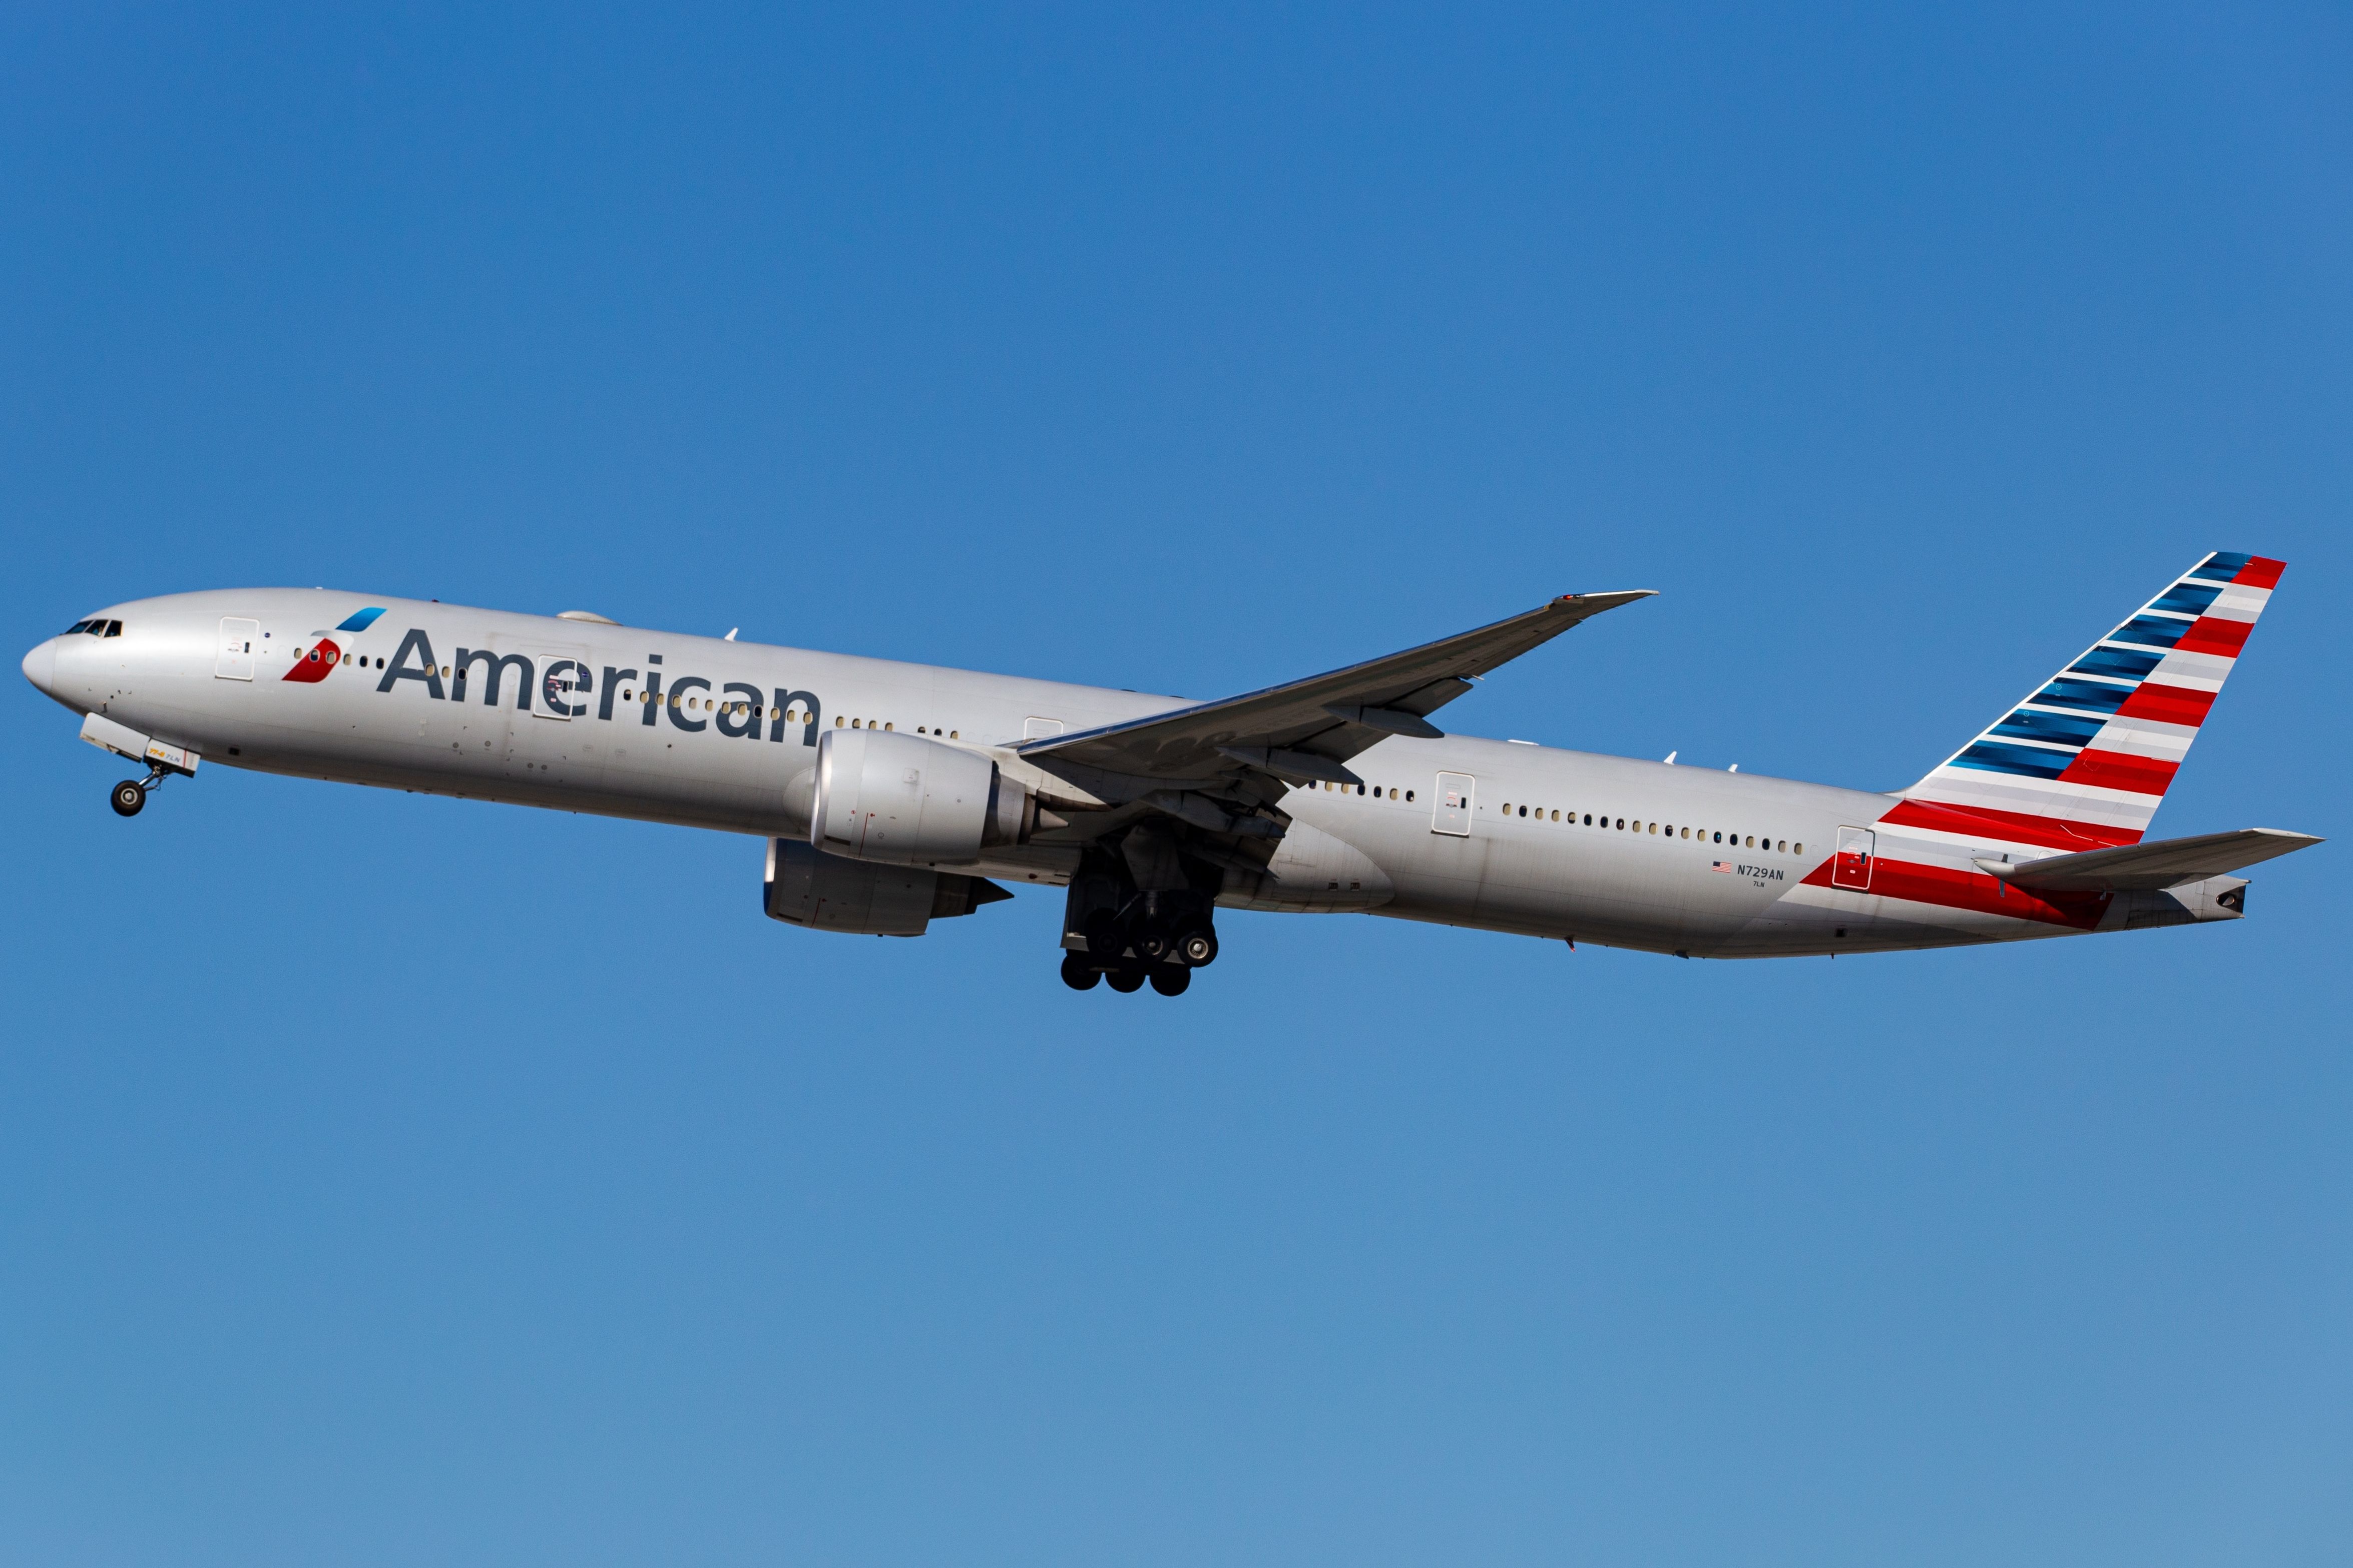
[[(360, 604), (381, 614), (339, 630)], [(1009, 748), (1188, 705), (336, 590), (188, 592), (104, 614), (120, 635), (45, 642), (24, 661), (28, 679), (207, 764), (762, 839), (809, 835), (826, 729)], [(1986, 846), (1969, 835), (1887, 827), (1897, 799), (1864, 790), (1473, 736), (1388, 738), (1351, 766), (1362, 785), (1280, 802), (1292, 827), (1273, 863), (1233, 877), (1221, 905), (1687, 957), (2228, 917), (2172, 896), (2035, 898), (1977, 870)], [(1861, 877), (1840, 875), (1842, 844), (1868, 846)], [(1035, 886), (1075, 865), (1071, 846), (1021, 844), (972, 870)]]

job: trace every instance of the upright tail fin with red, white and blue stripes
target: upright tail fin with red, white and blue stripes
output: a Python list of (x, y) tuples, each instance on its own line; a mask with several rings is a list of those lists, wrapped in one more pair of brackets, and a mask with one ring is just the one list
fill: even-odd
[(1882, 820), (2045, 849), (2139, 844), (2282, 569), (2205, 557)]

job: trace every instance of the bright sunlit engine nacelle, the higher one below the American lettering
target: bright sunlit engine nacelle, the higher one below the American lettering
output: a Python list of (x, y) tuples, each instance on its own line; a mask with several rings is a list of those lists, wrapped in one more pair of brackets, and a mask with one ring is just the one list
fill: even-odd
[(998, 764), (925, 736), (828, 729), (816, 743), (809, 844), (885, 865), (962, 865), (1024, 844), (1038, 799)]

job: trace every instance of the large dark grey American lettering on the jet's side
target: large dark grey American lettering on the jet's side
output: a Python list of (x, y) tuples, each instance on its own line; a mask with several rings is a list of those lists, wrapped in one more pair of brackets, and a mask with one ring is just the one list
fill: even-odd
[[(661, 654), (647, 654), (647, 665), (659, 665)], [(304, 665), (296, 665), (299, 670)], [(515, 712), (532, 710), (532, 693), (546, 712), (567, 719), (584, 719), (595, 708), (595, 717), (626, 722), (628, 712), (614, 712), (614, 703), (628, 701), (638, 710), (638, 724), (654, 729), (668, 715), (671, 726), (687, 733), (715, 731), (734, 741), (784, 741), (795, 733), (802, 745), (816, 745), (816, 722), (824, 705), (814, 691), (762, 691), (746, 682), (713, 682), (701, 675), (668, 675), (659, 668), (635, 670), (624, 665), (591, 668), (576, 658), (551, 658), (546, 668), (534, 665), (529, 654), (496, 654), (492, 649), (459, 649), (449, 665), (433, 656), (433, 639), (409, 628), (400, 639), (400, 651), (376, 682), (376, 691), (398, 691), (400, 682), (419, 682), (435, 703), (466, 701), (471, 677), (480, 672), (482, 705), (496, 708), (513, 677)], [(325, 665), (320, 665), (325, 675)], [(315, 679), (315, 677), (313, 677)], [(668, 679), (668, 689), (664, 689)], [(772, 701), (774, 698), (774, 701)], [(788, 724), (798, 719), (795, 724)]]

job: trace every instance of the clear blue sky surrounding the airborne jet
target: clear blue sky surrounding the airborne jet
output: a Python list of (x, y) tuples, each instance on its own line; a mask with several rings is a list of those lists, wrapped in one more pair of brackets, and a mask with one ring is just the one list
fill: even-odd
[[(1897, 788), (2289, 562), (2158, 832), (2344, 835), (2337, 9), (14, 7), (0, 623), (329, 583)], [(14, 654), (12, 654), (14, 656)], [(5, 1563), (2344, 1563), (2344, 849), (1680, 964), (122, 766), (7, 682)], [(551, 969), (539, 950), (576, 954)]]

